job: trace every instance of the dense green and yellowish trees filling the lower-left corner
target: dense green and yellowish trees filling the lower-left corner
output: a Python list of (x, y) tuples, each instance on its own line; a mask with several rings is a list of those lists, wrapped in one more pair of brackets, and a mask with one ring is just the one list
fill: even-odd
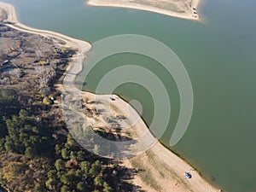
[(63, 124), (54, 127), (49, 119), (46, 127), (47, 118), (38, 121), (20, 101), (15, 90), (0, 90), (4, 186), (11, 191), (113, 191), (116, 166), (81, 148)]

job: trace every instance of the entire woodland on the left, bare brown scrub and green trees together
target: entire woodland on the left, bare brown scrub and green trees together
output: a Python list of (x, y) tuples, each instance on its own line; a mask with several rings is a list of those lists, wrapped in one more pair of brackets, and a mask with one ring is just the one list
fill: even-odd
[(76, 53), (0, 25), (0, 186), (26, 191), (131, 191), (118, 161), (91, 154), (61, 114), (63, 73)]

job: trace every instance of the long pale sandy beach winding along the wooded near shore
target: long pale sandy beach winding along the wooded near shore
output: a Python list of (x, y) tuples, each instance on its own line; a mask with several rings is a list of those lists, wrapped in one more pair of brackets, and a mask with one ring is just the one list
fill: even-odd
[[(90, 1), (91, 2), (91, 1)], [(95, 1), (93, 1), (95, 2)], [(64, 81), (67, 81), (69, 84), (73, 84), (73, 81), (76, 77), (76, 74), (80, 72), (83, 61), (86, 57), (86, 52), (88, 52), (91, 49), (91, 45), (87, 42), (84, 42), (82, 40), (78, 40), (75, 38), (70, 38), (65, 35), (62, 35), (57, 32), (49, 32), (44, 30), (38, 30), (33, 29), (32, 27), (25, 26), (21, 24), (15, 15), (15, 8), (12, 5), (9, 5), (7, 3), (0, 3), (0, 9), (4, 9), (8, 13), (8, 18), (6, 21), (12, 22), (7, 23), (7, 26), (13, 27), (17, 30), (24, 31), (24, 32), (32, 32), (36, 33), (45, 37), (49, 38), (56, 38), (61, 41), (64, 41), (66, 44), (64, 46), (78, 49), (77, 55), (73, 58), (73, 61), (69, 64), (69, 67), (67, 68), (67, 73), (64, 78)], [(184, 18), (184, 17), (183, 17)], [(188, 19), (189, 15), (188, 15)], [(61, 89), (67, 89), (67, 91), (79, 91), (76, 90), (77, 88), (72, 85), (70, 87), (65, 87), (65, 85), (61, 86)], [(130, 130), (130, 133), (132, 137), (137, 137), (142, 135), (144, 132), (148, 131), (147, 125), (143, 122), (143, 119), (139, 117), (137, 113), (127, 113), (127, 111), (131, 112), (131, 107), (127, 102), (122, 100), (119, 96), (111, 95), (111, 96), (96, 96), (95, 94), (89, 93), (89, 92), (82, 92), (81, 95), (83, 97), (86, 97), (90, 101), (99, 100), (102, 101), (101, 106), (98, 106), (98, 108), (102, 109), (109, 109), (108, 104), (111, 102), (112, 104), (112, 113), (102, 113), (102, 117), (104, 115), (125, 115), (129, 119), (129, 122), (136, 121), (137, 124), (132, 127)], [(114, 97), (115, 101), (109, 100), (109, 97)], [(90, 106), (94, 107), (94, 106)], [(87, 118), (87, 117), (84, 117)], [(135, 119), (132, 119), (135, 118)], [(138, 120), (137, 120), (138, 119)], [(97, 121), (94, 121), (94, 119), (89, 119), (92, 121), (92, 123), (98, 124), (98, 126), (106, 125), (106, 122), (104, 122), (103, 118), (97, 119)], [(124, 125), (121, 123), (121, 125)], [(213, 192), (213, 191), (219, 191), (218, 189), (215, 189), (207, 183), (198, 172), (194, 171), (194, 168), (192, 166), (189, 166), (188, 163), (186, 163), (181, 158), (177, 157), (176, 154), (173, 154), (170, 150), (165, 148), (160, 142), (155, 141), (152, 143), (152, 148), (148, 149), (148, 151), (141, 153), (137, 155), (134, 158), (131, 159), (125, 159), (121, 160), (124, 166), (134, 168), (133, 163), (137, 162), (141, 166), (145, 166), (148, 170), (148, 172), (154, 172), (154, 175), (152, 176), (152, 180), (154, 180), (158, 185), (160, 186), (160, 190), (154, 189), (152, 186), (148, 185), (147, 183), (143, 182), (143, 179), (140, 177), (139, 174), (134, 175), (134, 179), (131, 180), (131, 182), (135, 185), (138, 185), (141, 187), (142, 190), (145, 191), (173, 191), (173, 192), (187, 192), (187, 191), (195, 191), (195, 192)], [(164, 172), (164, 177), (161, 177), (161, 171)], [(188, 179), (187, 177), (184, 177), (184, 172), (190, 172), (192, 174), (192, 177)]]

